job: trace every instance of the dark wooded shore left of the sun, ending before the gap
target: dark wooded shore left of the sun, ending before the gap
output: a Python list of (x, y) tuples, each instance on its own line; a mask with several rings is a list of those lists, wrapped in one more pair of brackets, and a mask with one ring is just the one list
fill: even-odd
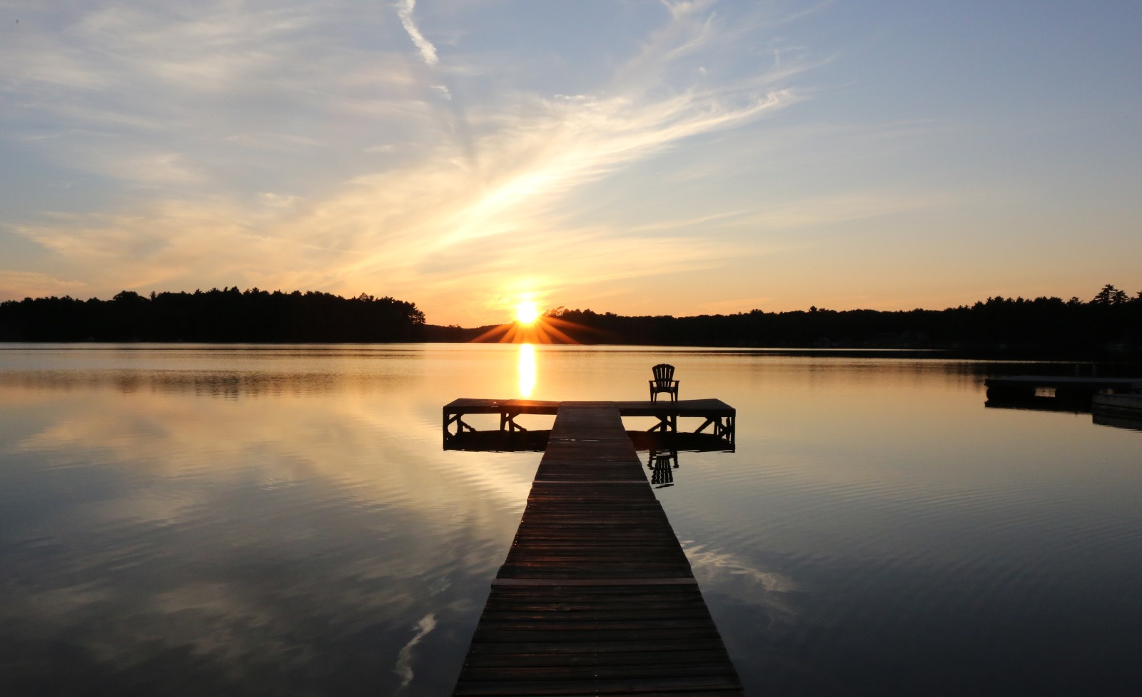
[(211, 288), (123, 290), (110, 301), (70, 296), (0, 303), (8, 342), (409, 342), (425, 317), (415, 303), (361, 294)]

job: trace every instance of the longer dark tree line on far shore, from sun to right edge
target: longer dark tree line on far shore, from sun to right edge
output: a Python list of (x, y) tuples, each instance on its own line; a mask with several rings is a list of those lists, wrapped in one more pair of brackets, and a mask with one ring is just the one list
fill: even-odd
[[(581, 344), (778, 348), (943, 348), (1010, 356), (1142, 358), (1142, 293), (1105, 286), (1077, 297), (990, 297), (947, 310), (823, 310), (624, 317), (557, 307), (540, 321)], [(491, 328), (428, 327), (428, 341), (473, 341)], [(542, 333), (536, 333), (542, 334)], [(550, 334), (550, 333), (549, 333)]]

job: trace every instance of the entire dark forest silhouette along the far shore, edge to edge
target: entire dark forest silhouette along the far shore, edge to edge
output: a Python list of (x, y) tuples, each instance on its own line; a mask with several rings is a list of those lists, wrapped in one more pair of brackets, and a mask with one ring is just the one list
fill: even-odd
[[(947, 348), (967, 354), (1142, 358), (1142, 293), (1107, 285), (1089, 301), (990, 297), (947, 310), (825, 310), (624, 317), (557, 307), (528, 331), (425, 325), (413, 303), (360, 295), (258, 290), (124, 290), (0, 303), (0, 341), (22, 342), (468, 342), (817, 348)], [(555, 330), (557, 329), (557, 331)], [(499, 337), (498, 339), (494, 337)], [(504, 337), (515, 337), (505, 339)]]

